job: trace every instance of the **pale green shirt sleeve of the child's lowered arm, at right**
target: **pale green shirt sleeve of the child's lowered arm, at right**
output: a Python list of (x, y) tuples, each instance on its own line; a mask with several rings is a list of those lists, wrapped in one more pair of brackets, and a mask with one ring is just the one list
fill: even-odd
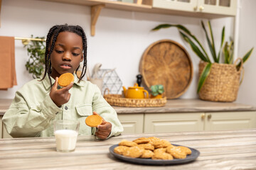
[[(92, 110), (98, 113), (102, 118), (104, 118), (104, 120), (112, 124), (112, 130), (107, 138), (120, 135), (124, 131), (122, 124), (117, 118), (117, 112), (114, 110), (114, 108), (112, 108), (112, 106), (110, 106), (109, 103), (107, 103), (107, 101), (105, 101), (100, 89), (97, 88), (96, 85), (95, 94), (92, 101)], [(92, 133), (94, 134), (95, 131), (96, 130), (94, 128)]]

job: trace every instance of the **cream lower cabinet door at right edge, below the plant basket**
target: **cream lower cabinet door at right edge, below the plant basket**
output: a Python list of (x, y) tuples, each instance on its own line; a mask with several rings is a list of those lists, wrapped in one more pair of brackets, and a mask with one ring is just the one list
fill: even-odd
[(256, 128), (256, 112), (206, 113), (205, 130), (239, 130)]

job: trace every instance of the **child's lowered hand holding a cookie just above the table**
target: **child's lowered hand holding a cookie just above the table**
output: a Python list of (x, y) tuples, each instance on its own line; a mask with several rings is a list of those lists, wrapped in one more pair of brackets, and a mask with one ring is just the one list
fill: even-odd
[[(97, 115), (96, 112), (93, 112), (93, 114)], [(102, 118), (102, 124), (97, 125), (97, 132), (95, 132), (95, 135), (100, 139), (105, 140), (110, 135), (111, 130), (112, 130), (112, 124), (109, 122), (106, 122)]]

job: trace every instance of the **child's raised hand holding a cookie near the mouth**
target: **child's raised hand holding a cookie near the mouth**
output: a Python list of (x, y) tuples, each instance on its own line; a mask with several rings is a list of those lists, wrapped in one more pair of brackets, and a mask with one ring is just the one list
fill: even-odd
[(68, 93), (68, 91), (73, 87), (73, 82), (62, 89), (57, 89), (57, 87), (58, 77), (55, 78), (55, 83), (53, 84), (52, 89), (50, 89), (50, 98), (53, 100), (56, 106), (60, 107), (63, 104), (68, 103), (71, 95)]

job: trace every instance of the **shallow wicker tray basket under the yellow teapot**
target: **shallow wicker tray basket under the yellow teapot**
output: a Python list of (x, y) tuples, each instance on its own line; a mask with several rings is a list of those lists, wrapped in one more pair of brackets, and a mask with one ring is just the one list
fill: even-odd
[(161, 107), (167, 102), (164, 98), (123, 98), (120, 94), (105, 94), (105, 100), (111, 106), (122, 107)]

